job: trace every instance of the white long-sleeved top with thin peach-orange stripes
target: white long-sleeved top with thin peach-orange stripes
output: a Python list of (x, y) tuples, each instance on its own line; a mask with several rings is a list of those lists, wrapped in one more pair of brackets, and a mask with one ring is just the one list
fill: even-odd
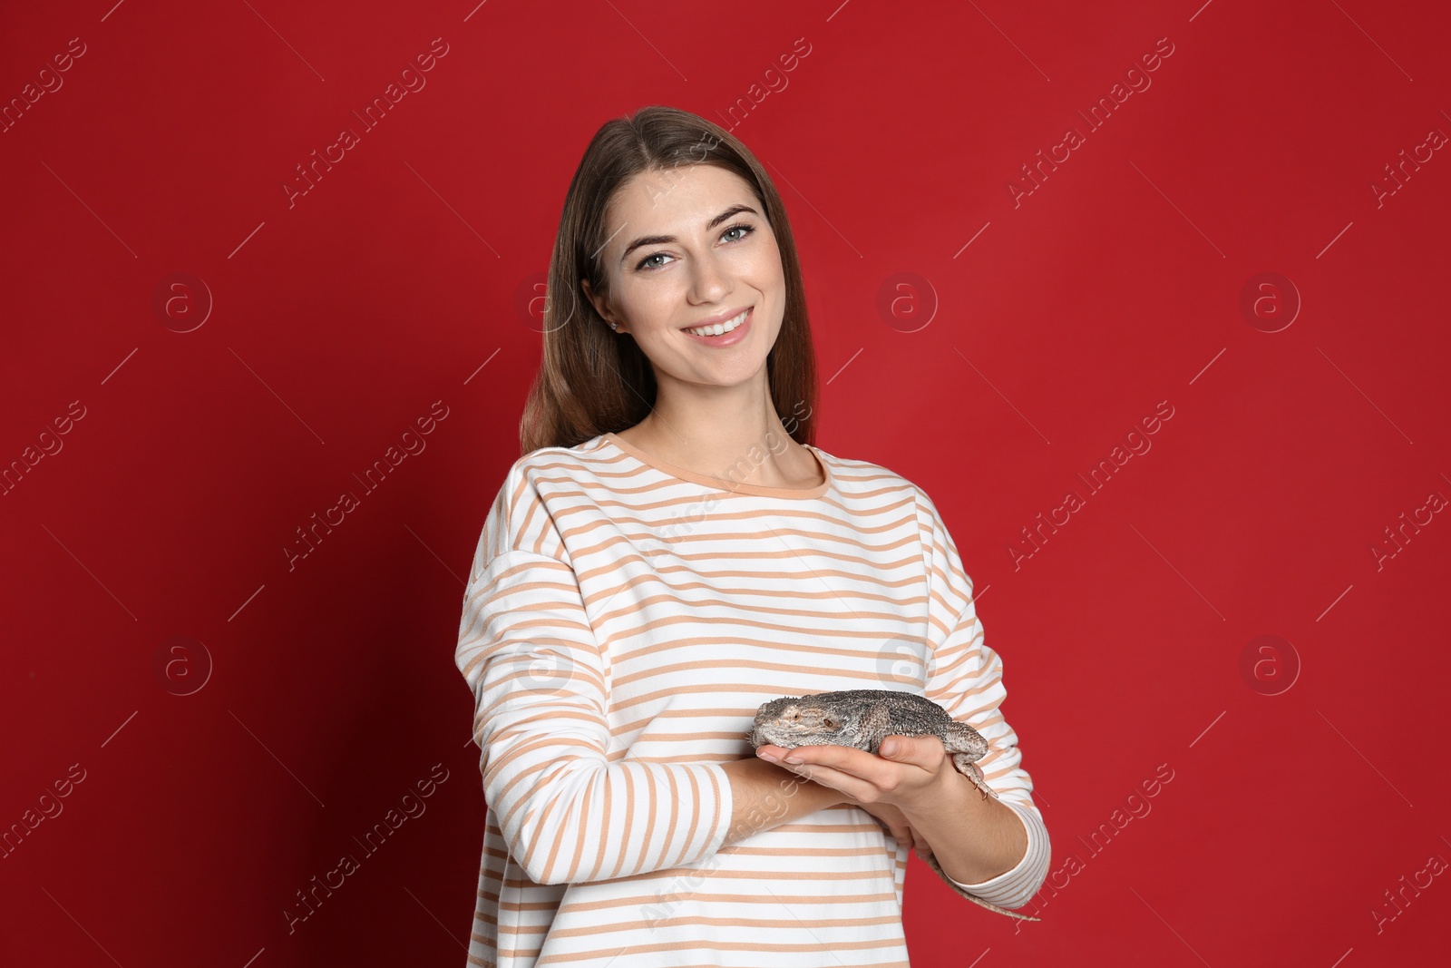
[(615, 434), (509, 469), (456, 653), (488, 805), (469, 965), (907, 965), (908, 848), (865, 810), (726, 843), (721, 763), (753, 755), (756, 708), (782, 695), (905, 689), (977, 729), (1027, 852), (962, 887), (1019, 907), (1042, 885), (1048, 832), (998, 710), (1001, 662), (936, 506), (810, 450), (824, 482), (808, 489), (726, 483)]

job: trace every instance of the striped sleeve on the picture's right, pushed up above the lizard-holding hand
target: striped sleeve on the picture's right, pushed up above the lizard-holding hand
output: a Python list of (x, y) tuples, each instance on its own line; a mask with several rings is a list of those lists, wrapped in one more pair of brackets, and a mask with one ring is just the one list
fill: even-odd
[(972, 579), (962, 570), (956, 544), (932, 499), (920, 489), (917, 493), (923, 554), (929, 569), (930, 653), (926, 695), (948, 710), (953, 720), (966, 723), (988, 742), (988, 752), (978, 760), (978, 766), (988, 785), (1019, 816), (1027, 832), (1027, 850), (1013, 869), (981, 884), (953, 882), (1000, 907), (1020, 907), (1048, 877), (1048, 829), (1033, 803), (1033, 781), (1022, 768), (1017, 733), (998, 710), (1007, 697), (1003, 662), (984, 643), (982, 623), (978, 621), (972, 598)]

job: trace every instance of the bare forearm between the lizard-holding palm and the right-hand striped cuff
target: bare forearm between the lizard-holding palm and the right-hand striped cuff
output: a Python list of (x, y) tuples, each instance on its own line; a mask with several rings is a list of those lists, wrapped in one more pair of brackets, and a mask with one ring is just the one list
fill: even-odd
[(962, 774), (948, 774), (939, 797), (911, 810), (904, 805), (903, 814), (953, 881), (981, 884), (1007, 874), (1027, 853), (1023, 821), (1001, 800), (984, 798)]

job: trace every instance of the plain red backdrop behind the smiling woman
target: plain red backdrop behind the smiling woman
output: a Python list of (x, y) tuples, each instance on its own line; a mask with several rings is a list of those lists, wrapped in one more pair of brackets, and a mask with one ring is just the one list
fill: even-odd
[[(463, 964), (485, 811), (463, 578), (518, 456), (569, 179), (650, 103), (776, 179), (830, 377), (817, 443), (933, 496), (1004, 659), (1058, 887), (1020, 924), (914, 858), (914, 964), (1444, 956), (1451, 878), (1386, 897), (1451, 861), (1451, 522), (1386, 538), (1451, 496), (1451, 158), (1422, 148), (1393, 194), (1386, 171), (1451, 132), (1441, 4), (0, 17), (4, 103), (84, 44), (0, 134), (0, 462), (59, 447), (0, 498), (0, 826), (64, 808), (0, 859), (4, 964)], [(425, 87), (289, 206), (295, 167), (434, 38)], [(1090, 131), (1077, 112), (1161, 38), (1152, 86)], [(1069, 126), (1085, 142), (1014, 203)], [(884, 290), (897, 273), (920, 279)], [(1259, 273), (1288, 283), (1246, 313)], [(427, 448), (289, 567), (435, 401)], [(1162, 401), (1152, 448), (1090, 495), (1077, 475)], [(1069, 489), (1084, 506), (1014, 559)], [(1246, 672), (1259, 636), (1288, 644)], [(427, 813), (289, 933), (295, 893), (435, 765)]]

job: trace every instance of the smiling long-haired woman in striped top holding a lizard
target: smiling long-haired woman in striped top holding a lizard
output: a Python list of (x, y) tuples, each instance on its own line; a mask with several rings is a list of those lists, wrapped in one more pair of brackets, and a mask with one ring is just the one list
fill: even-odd
[[(489, 805), (469, 962), (905, 965), (914, 848), (1024, 904), (1048, 834), (1001, 663), (929, 496), (811, 443), (801, 270), (755, 157), (670, 107), (605, 123), (544, 319), (456, 655)], [(768, 700), (859, 688), (974, 726), (1000, 798), (932, 736), (743, 739)]]

